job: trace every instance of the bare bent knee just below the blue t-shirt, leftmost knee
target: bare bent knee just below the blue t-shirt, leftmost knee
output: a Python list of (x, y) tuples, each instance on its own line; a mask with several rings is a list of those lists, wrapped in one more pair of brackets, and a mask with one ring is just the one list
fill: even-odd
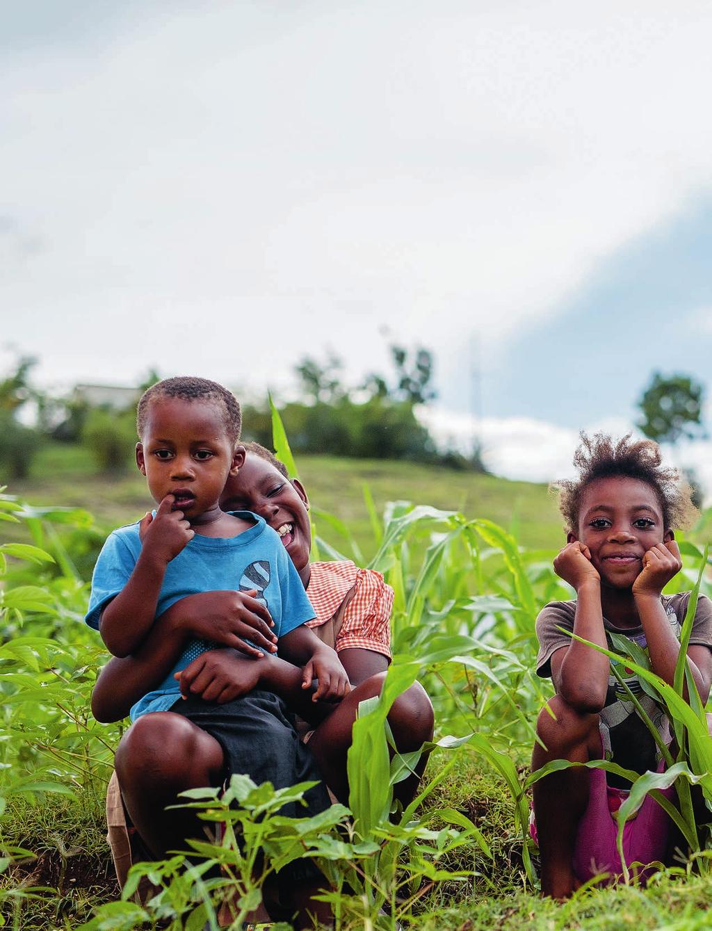
[(131, 725), (114, 764), (122, 787), (151, 784), (180, 791), (219, 781), (222, 748), (180, 714), (156, 711)]

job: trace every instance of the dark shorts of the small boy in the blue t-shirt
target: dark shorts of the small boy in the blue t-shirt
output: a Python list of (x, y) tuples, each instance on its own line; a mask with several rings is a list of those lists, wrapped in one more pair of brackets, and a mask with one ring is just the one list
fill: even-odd
[[(215, 737), (225, 758), (226, 780), (233, 773), (244, 773), (257, 785), (271, 782), (275, 789), (318, 780), (304, 793), (306, 805), (287, 803), (280, 815), (311, 817), (329, 808), (329, 792), (312, 751), (302, 743), (293, 715), (274, 693), (255, 689), (224, 705), (181, 698), (170, 710)], [(309, 860), (297, 860), (287, 870), (292, 878), (299, 873), (303, 879), (320, 875)]]

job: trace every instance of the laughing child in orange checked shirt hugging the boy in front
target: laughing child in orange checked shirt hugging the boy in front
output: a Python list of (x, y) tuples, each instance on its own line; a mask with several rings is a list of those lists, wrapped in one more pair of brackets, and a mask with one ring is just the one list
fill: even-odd
[[(331, 706), (326, 720), (316, 721), (316, 730), (309, 735), (309, 748), (313, 750), (319, 769), (329, 789), (340, 800), (348, 802), (346, 783), (346, 753), (351, 745), (351, 730), (356, 720), (358, 702), (380, 692), (390, 658), (390, 614), (393, 591), (385, 585), (383, 577), (368, 569), (358, 569), (353, 562), (309, 562), (311, 529), (308, 499), (298, 480), (289, 481), (286, 467), (275, 456), (257, 443), (247, 446), (247, 457), (238, 475), (227, 480), (221, 497), (226, 508), (245, 507), (260, 514), (281, 534), (289, 558), (293, 561), (306, 593), (312, 602), (316, 618), (309, 621), (318, 636), (334, 646), (352, 684), (352, 692), (342, 702)], [(180, 635), (189, 630), (201, 614), (227, 616), (231, 611), (231, 593), (214, 592), (196, 595), (177, 602), (158, 622), (164, 626), (164, 641), (173, 638), (173, 650), (181, 649)], [(174, 636), (174, 631), (179, 636)], [(92, 708), (101, 721), (115, 721), (124, 717), (128, 706), (141, 694), (146, 684), (165, 674), (172, 657), (162, 651), (162, 643), (155, 637), (135, 657), (112, 660), (101, 672), (92, 695)], [(249, 676), (249, 660), (229, 651), (215, 650), (204, 654), (205, 663), (221, 668), (222, 687), (234, 688)], [(260, 664), (258, 664), (260, 665)], [(272, 672), (269, 687), (288, 701), (292, 707), (302, 699), (300, 713), (312, 717), (303, 702), (299, 670), (275, 660), (269, 666)], [(186, 691), (198, 694), (201, 659), (184, 670), (182, 684)], [(276, 681), (277, 676), (279, 681)], [(323, 715), (322, 715), (323, 717)], [(433, 708), (420, 683), (399, 695), (388, 716), (396, 746), (401, 752), (419, 749), (433, 735)], [(124, 779), (141, 769), (141, 761), (151, 752), (143, 742), (133, 741), (129, 729), (122, 739)], [(156, 761), (157, 762), (157, 761)], [(424, 762), (424, 760), (423, 760)], [(406, 805), (417, 787), (417, 777), (410, 777), (396, 785), (396, 794)], [(117, 867), (129, 862), (123, 805), (115, 778), (110, 786), (108, 801), (110, 836)], [(128, 867), (127, 867), (128, 869)]]

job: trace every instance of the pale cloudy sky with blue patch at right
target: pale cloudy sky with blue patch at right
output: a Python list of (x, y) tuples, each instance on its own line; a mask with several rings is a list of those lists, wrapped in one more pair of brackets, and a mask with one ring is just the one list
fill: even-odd
[(706, 380), (708, 4), (0, 17), (0, 361), (44, 385), (286, 392), (307, 353), (356, 381), (424, 344), (440, 435), (475, 419), (494, 467), (546, 479), (653, 369)]

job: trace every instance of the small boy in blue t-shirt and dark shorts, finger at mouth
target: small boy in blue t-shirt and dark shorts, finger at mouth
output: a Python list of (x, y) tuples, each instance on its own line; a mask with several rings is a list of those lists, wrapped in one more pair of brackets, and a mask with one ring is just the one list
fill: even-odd
[[(247, 772), (258, 782), (269, 779), (276, 788), (319, 779), (284, 704), (256, 688), (259, 668), (275, 662), (271, 654), (277, 642), (280, 653), (304, 666), (302, 687), (318, 680), (317, 698), (338, 700), (348, 680), (334, 651), (303, 626), (314, 611), (277, 534), (262, 518), (228, 514), (219, 505), (225, 480), (245, 457), (244, 447), (235, 447), (240, 432), (235, 398), (205, 379), (167, 379), (141, 398), (137, 425), (137, 464), (159, 506), (154, 515), (107, 540), (92, 579), (87, 623), (100, 627), (114, 654), (127, 655), (140, 649), (156, 627), (155, 616), (171, 604), (240, 587), (233, 591), (234, 614), (222, 625), (209, 616), (194, 625), (194, 637), (183, 645), (168, 677), (131, 710), (137, 722), (132, 730), (138, 727), (159, 742), (166, 768), (153, 792), (137, 795), (125, 786), (125, 800), (143, 841), (160, 855), (195, 834), (190, 813), (165, 812), (190, 784), (220, 784), (233, 772)], [(230, 702), (204, 700), (215, 689), (209, 674), (203, 677), (203, 698), (181, 700), (182, 670), (217, 642), (248, 654), (253, 675)], [(222, 694), (214, 697), (220, 700)], [(175, 734), (192, 742), (188, 785), (181, 784), (186, 773), (174, 754)], [(118, 766), (120, 753), (116, 759)], [(329, 805), (322, 784), (307, 793), (307, 800), (313, 814)]]

